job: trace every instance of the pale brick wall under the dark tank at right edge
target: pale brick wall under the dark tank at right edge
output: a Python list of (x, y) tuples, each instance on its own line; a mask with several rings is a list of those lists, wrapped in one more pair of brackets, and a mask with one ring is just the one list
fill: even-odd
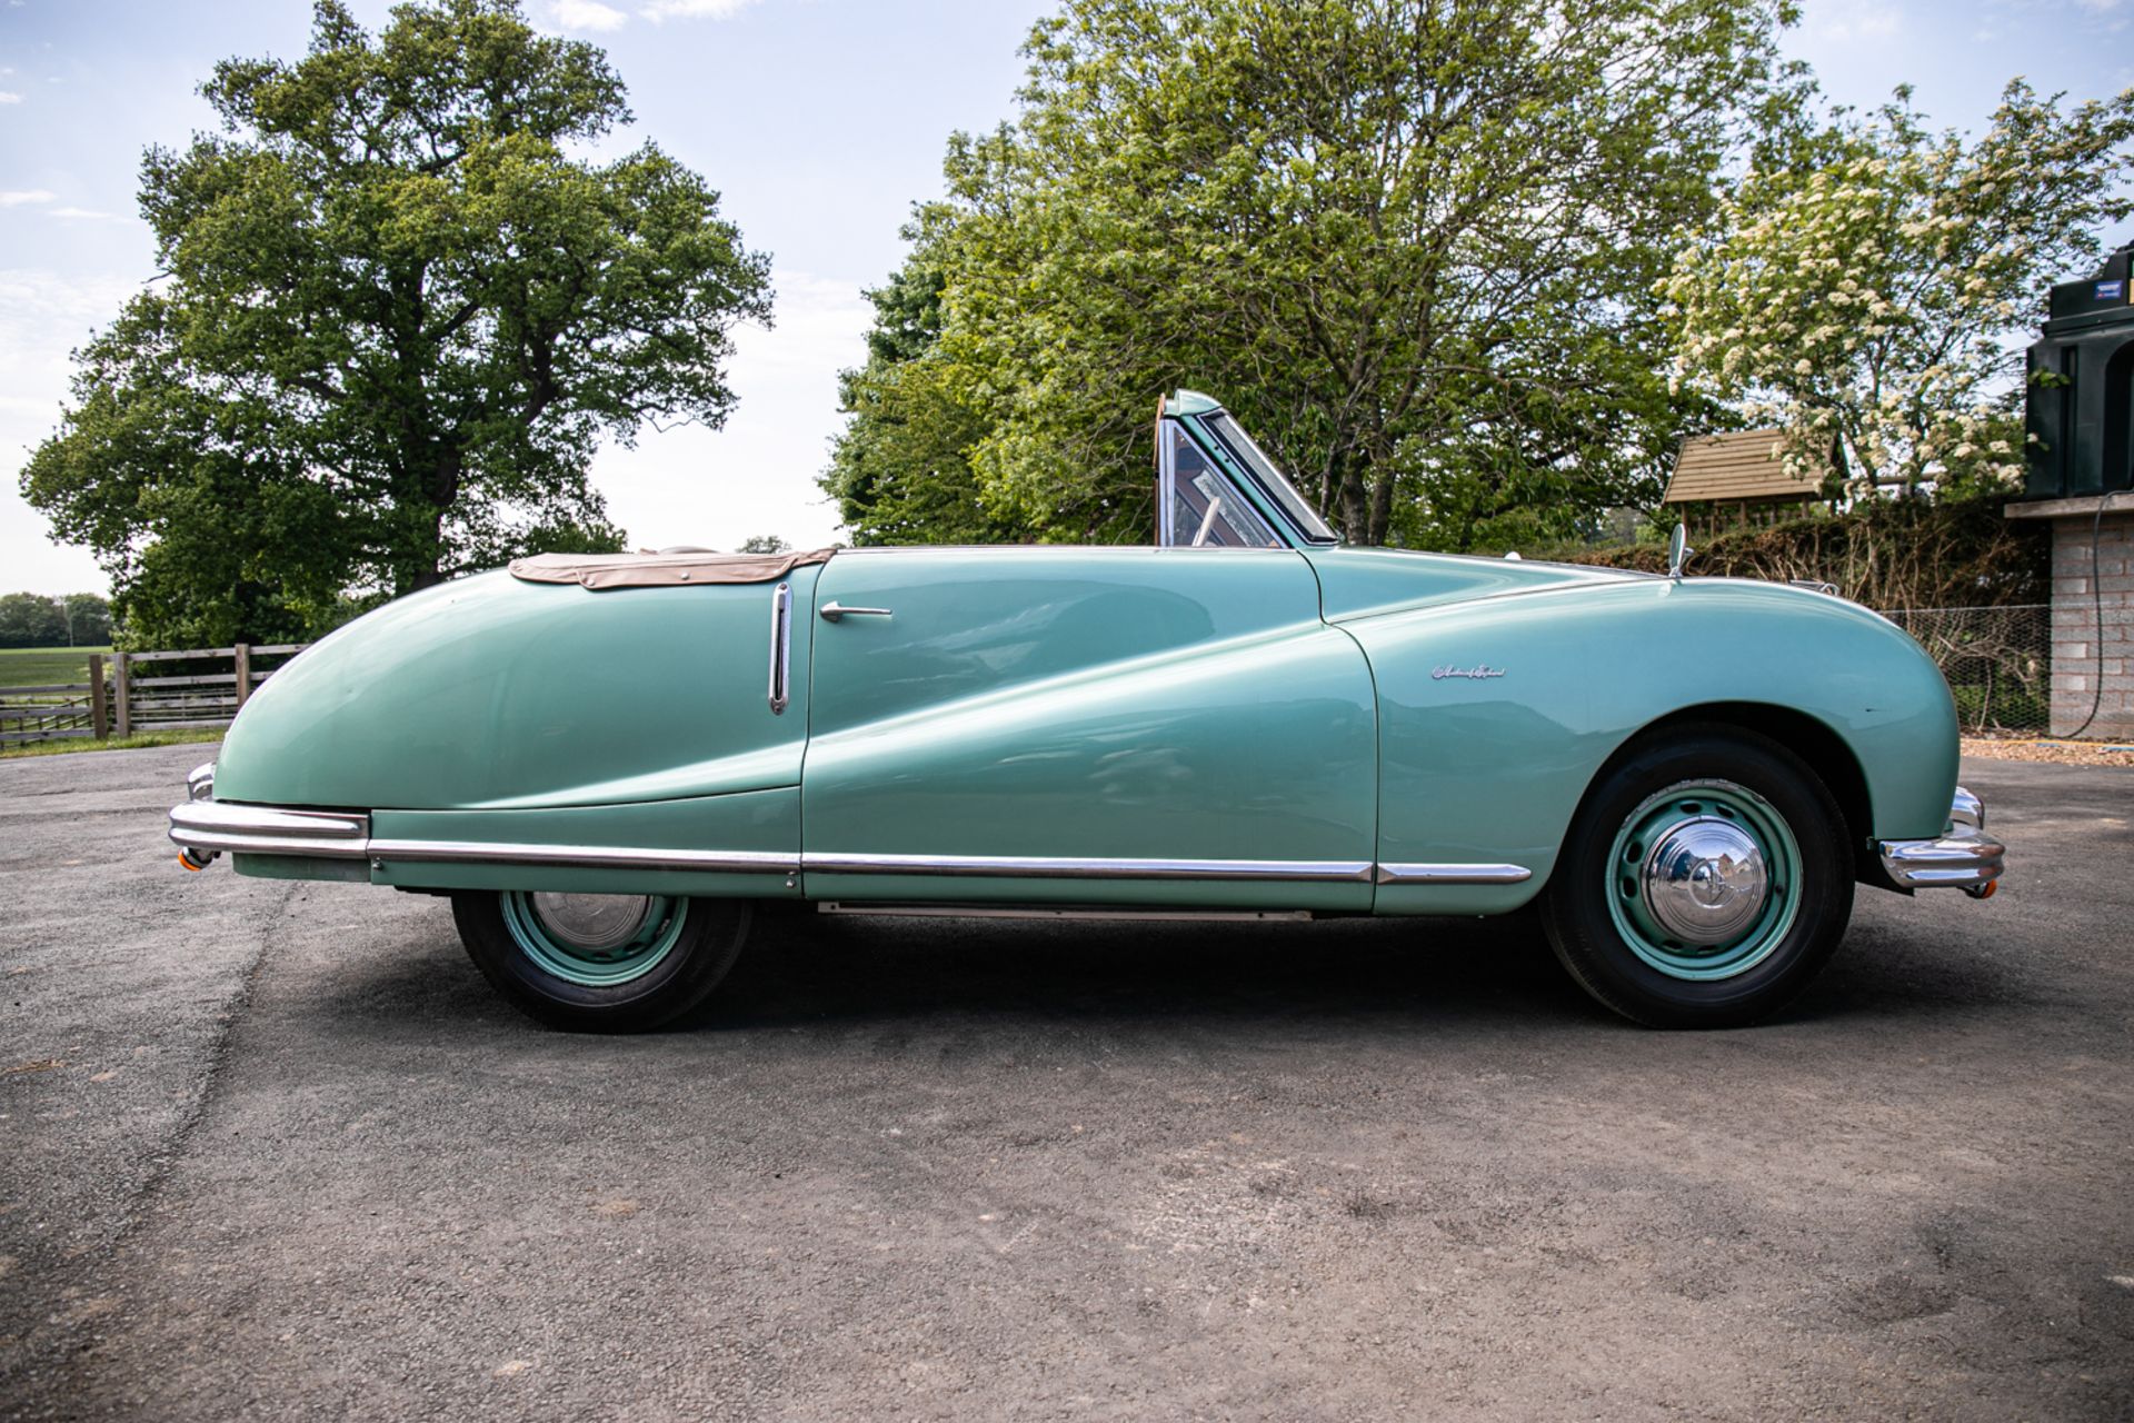
[(2134, 738), (2134, 512), (2111, 510), (2096, 525), (2102, 597), (2089, 585), (2091, 527), (2091, 518), (2053, 518), (2053, 734), (2070, 736), (2096, 698), (2098, 717), (2083, 736)]

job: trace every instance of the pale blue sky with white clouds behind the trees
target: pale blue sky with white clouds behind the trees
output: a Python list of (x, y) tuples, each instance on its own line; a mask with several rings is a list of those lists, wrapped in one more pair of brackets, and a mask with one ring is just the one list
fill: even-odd
[[(367, 26), (382, 0), (354, 0)], [(723, 196), (768, 252), (775, 326), (743, 329), (738, 410), (719, 431), (604, 448), (595, 486), (634, 546), (839, 538), (815, 478), (841, 418), (837, 371), (864, 356), (862, 290), (901, 260), (898, 226), (941, 190), (952, 130), (1012, 117), (1016, 53), (1050, 0), (527, 0), (589, 38), (636, 122)], [(17, 493), (60, 418), (68, 352), (154, 273), (134, 211), (141, 151), (213, 126), (198, 83), (230, 55), (297, 58), (307, 0), (0, 0), (0, 591), (107, 591)], [(1831, 98), (1912, 83), (1936, 126), (1978, 130), (2002, 85), (2102, 98), (2134, 85), (2134, 0), (1805, 0), (1786, 49)], [(2113, 235), (2123, 239), (2125, 235)], [(1140, 395), (1133, 395), (1140, 399)]]

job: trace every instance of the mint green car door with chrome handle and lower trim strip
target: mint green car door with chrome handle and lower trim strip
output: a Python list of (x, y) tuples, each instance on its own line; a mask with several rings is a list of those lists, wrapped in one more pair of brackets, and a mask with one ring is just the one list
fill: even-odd
[(1368, 909), (1370, 670), (1287, 548), (847, 550), (811, 898)]

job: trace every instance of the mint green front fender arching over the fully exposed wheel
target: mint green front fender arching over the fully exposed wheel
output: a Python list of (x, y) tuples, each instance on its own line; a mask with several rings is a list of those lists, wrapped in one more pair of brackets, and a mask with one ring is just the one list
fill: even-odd
[(1639, 730), (1714, 702), (1829, 728), (1878, 838), (1936, 836), (1957, 783), (1948, 685), (1886, 619), (1733, 578), (1633, 580), (1344, 621), (1379, 689), (1379, 860), (1519, 864), (1517, 885), (1381, 885), (1381, 913), (1500, 913), (1556, 866)]

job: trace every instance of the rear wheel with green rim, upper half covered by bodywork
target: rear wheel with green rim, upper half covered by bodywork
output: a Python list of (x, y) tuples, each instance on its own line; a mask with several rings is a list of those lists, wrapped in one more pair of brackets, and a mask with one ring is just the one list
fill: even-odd
[(534, 1018), (638, 1033), (702, 1003), (740, 956), (745, 900), (662, 894), (452, 894), (467, 956)]

